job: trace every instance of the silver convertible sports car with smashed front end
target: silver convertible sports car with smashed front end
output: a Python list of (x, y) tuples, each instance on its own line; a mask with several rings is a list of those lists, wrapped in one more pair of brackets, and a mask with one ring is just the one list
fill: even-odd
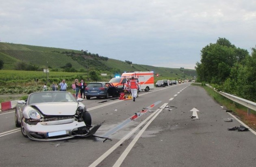
[(91, 115), (81, 101), (65, 91), (32, 93), (17, 102), (15, 125), (24, 137), (37, 141), (93, 135), (101, 124), (90, 130)]

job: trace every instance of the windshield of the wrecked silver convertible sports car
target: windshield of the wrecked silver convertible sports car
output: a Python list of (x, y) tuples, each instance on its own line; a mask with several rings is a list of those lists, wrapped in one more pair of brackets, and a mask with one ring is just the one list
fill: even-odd
[(51, 103), (51, 102), (77, 102), (76, 98), (65, 91), (36, 92), (28, 96), (27, 104)]

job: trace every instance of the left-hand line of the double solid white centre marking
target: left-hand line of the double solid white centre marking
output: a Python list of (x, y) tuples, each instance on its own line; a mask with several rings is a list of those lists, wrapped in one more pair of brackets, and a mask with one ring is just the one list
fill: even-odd
[[(163, 109), (164, 108), (163, 106), (164, 105), (162, 105), (160, 109)], [(130, 131), (130, 133), (128, 133), (121, 140), (119, 140), (114, 146), (112, 146), (109, 150), (107, 150), (104, 154), (102, 154), (102, 156), (100, 156), (96, 161), (94, 161), (89, 167), (96, 167), (97, 165), (99, 165), (100, 162), (102, 162), (109, 154), (111, 154), (117, 147), (119, 147), (121, 143), (123, 143), (126, 139), (132, 136), (143, 124), (145, 124), (145, 122), (147, 122), (151, 117), (153, 117), (160, 109), (158, 108), (156, 112), (148, 116), (148, 118), (146, 118), (137, 127), (135, 127), (132, 131)]]

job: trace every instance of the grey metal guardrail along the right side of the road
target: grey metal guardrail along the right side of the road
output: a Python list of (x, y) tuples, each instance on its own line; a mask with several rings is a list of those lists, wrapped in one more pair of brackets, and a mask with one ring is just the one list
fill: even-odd
[(216, 92), (218, 92), (219, 94), (221, 94), (222, 96), (236, 102), (236, 103), (239, 103), (245, 107), (247, 107), (247, 115), (250, 114), (250, 110), (254, 110), (256, 111), (256, 103), (252, 102), (252, 101), (248, 101), (244, 98), (240, 98), (240, 97), (237, 97), (237, 96), (234, 96), (232, 94), (228, 94), (228, 93), (225, 93), (225, 92), (221, 92), (221, 91), (217, 91), (215, 88), (213, 88), (212, 86), (208, 85), (208, 84), (205, 84), (206, 86), (208, 86), (209, 88), (212, 88), (213, 90), (215, 90)]

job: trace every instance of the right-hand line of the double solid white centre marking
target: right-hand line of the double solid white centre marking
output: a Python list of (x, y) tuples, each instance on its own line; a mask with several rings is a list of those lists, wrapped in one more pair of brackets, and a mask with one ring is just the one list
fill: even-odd
[[(168, 105), (168, 103), (163, 104), (163, 107), (165, 107), (166, 105)], [(119, 167), (121, 165), (121, 163), (123, 163), (124, 159), (126, 158), (126, 156), (128, 155), (128, 153), (130, 152), (130, 150), (132, 150), (132, 147), (135, 145), (135, 143), (139, 140), (139, 138), (141, 137), (141, 135), (143, 134), (143, 132), (146, 130), (146, 128), (148, 128), (148, 126), (151, 124), (151, 122), (153, 122), (153, 120), (158, 116), (159, 113), (161, 113), (161, 111), (163, 111), (163, 109), (159, 110), (154, 117), (148, 121), (147, 124), (145, 124), (145, 126), (141, 129), (141, 131), (139, 131), (139, 133), (135, 136), (135, 138), (132, 140), (132, 142), (128, 145), (128, 147), (124, 150), (124, 152), (121, 154), (121, 156), (118, 158), (118, 160), (115, 162), (115, 164), (113, 165), (113, 167)]]

